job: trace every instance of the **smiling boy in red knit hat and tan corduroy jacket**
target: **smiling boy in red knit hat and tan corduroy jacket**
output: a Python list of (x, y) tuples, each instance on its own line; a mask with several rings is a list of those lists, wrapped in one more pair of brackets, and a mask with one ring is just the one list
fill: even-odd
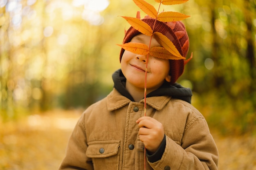
[[(155, 19), (144, 18), (153, 28)], [(183, 57), (189, 38), (182, 22), (160, 22), (154, 32), (168, 37)], [(130, 27), (124, 43), (149, 46), (150, 37)], [(160, 46), (152, 38), (150, 48)], [(88, 107), (70, 137), (60, 170), (217, 170), (218, 150), (204, 117), (191, 106), (191, 90), (175, 83), (184, 60), (148, 57), (121, 49), (114, 89)]]

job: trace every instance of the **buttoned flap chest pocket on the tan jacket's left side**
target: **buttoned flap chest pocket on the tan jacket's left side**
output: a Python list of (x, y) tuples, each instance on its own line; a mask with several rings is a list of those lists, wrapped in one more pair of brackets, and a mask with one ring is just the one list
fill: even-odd
[(88, 143), (86, 156), (92, 159), (95, 170), (119, 168), (120, 141), (93, 141)]

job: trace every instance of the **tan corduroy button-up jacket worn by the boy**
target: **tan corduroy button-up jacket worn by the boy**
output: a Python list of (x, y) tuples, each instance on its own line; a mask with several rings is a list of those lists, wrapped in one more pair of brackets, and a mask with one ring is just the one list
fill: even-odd
[[(169, 96), (148, 97), (147, 116), (164, 126), (162, 159), (147, 170), (217, 170), (218, 150), (206, 120), (191, 104)], [(131, 102), (115, 88), (88, 107), (70, 137), (60, 170), (144, 170), (144, 144), (136, 120), (144, 99)]]

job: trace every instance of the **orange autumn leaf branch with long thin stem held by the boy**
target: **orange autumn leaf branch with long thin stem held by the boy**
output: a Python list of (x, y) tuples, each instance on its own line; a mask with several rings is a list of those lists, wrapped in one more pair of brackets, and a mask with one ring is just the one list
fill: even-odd
[[(135, 4), (144, 11), (150, 18), (155, 19), (160, 22), (175, 22), (184, 20), (189, 17), (189, 15), (185, 15), (179, 12), (167, 11), (159, 13), (159, 9), (161, 4), (163, 5), (174, 5), (174, 4), (182, 4), (187, 2), (188, 0), (155, 0), (155, 2), (159, 3), (158, 11), (153, 7), (153, 5), (149, 4), (144, 0), (133, 0)], [(176, 49), (175, 45), (171, 40), (169, 40), (165, 35), (160, 32), (154, 32), (155, 23), (153, 25), (153, 29), (146, 23), (143, 22), (140, 18), (139, 12), (137, 13), (136, 18), (122, 16), (134, 29), (141, 32), (144, 35), (151, 36), (149, 46), (142, 43), (128, 42), (125, 44), (118, 44), (123, 49), (130, 51), (132, 53), (136, 53), (139, 55), (147, 55), (146, 60), (146, 71), (145, 71), (145, 91), (144, 91), (144, 116), (146, 116), (146, 82), (147, 82), (147, 66), (148, 66), (148, 56), (151, 55), (153, 57), (158, 57), (166, 60), (184, 60), (186, 64), (189, 60), (185, 60), (179, 51)], [(161, 47), (153, 47), (150, 48), (152, 37), (159, 42)], [(146, 148), (145, 148), (146, 152)], [(146, 170), (146, 154), (144, 154), (144, 169)]]

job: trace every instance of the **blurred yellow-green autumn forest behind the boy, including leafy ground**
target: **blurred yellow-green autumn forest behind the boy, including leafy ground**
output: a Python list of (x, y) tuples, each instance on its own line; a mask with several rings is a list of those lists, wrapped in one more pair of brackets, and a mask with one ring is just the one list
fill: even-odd
[[(220, 154), (232, 149), (220, 169), (239, 169), (246, 159), (240, 169), (255, 170), (256, 0), (189, 0), (164, 9), (191, 15), (183, 22), (193, 59), (178, 82), (192, 89), (192, 104), (213, 131), (237, 137), (214, 136)], [(116, 44), (130, 27), (119, 16), (139, 10), (132, 0), (0, 0), (0, 169), (44, 169), (31, 166), (40, 155), (48, 158), (45, 169), (57, 167), (82, 110), (112, 90)], [(247, 149), (234, 153), (238, 146)], [(232, 154), (250, 156), (227, 161)]]

